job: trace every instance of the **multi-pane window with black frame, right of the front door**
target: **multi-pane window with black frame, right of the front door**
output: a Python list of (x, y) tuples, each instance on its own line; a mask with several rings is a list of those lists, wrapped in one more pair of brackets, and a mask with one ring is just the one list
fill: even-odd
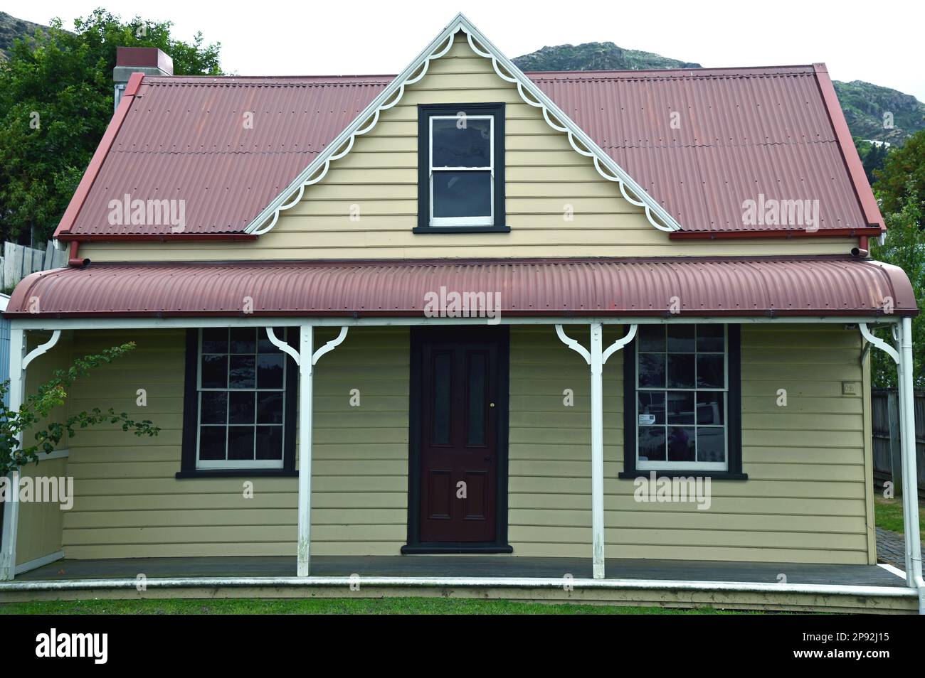
[(623, 351), (621, 478), (745, 479), (739, 326), (640, 325)]

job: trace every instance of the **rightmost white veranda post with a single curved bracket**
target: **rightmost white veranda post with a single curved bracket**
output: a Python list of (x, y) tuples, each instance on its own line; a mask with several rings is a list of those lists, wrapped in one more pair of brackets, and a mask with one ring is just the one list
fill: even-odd
[(919, 613), (925, 614), (925, 581), (922, 579), (922, 551), (919, 537), (919, 474), (916, 463), (916, 419), (912, 362), (912, 319), (893, 325), (894, 346), (870, 333), (860, 323), (861, 334), (894, 359), (899, 391), (899, 431), (903, 476), (903, 533), (906, 546), (906, 582), (919, 591)]

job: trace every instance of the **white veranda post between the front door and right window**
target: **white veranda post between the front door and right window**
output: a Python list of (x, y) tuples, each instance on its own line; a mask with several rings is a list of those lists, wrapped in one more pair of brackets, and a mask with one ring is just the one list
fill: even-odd
[(591, 535), (592, 565), (595, 579), (604, 578), (604, 388), (603, 374), (607, 359), (623, 346), (633, 341), (636, 325), (630, 325), (629, 332), (603, 349), (603, 326), (591, 323), (591, 350), (568, 336), (561, 325), (556, 333), (562, 343), (585, 358), (591, 366)]

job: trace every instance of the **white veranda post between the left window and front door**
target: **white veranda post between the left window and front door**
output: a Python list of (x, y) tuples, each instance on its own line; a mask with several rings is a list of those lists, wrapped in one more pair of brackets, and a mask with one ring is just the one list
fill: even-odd
[(287, 353), (299, 366), (299, 541), (296, 547), (299, 576), (312, 573), (312, 386), (314, 364), (318, 358), (333, 351), (347, 337), (347, 328), (341, 327), (338, 336), (317, 351), (314, 348), (314, 328), (302, 325), (299, 328), (299, 350), (278, 339), (272, 327), (266, 328), (266, 336), (280, 350)]

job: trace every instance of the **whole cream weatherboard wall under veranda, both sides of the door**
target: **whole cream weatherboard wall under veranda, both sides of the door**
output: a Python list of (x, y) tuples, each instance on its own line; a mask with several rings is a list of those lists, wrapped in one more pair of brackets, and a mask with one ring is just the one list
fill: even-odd
[[(573, 327), (587, 342), (587, 331)], [(608, 327), (605, 343), (622, 335)], [(295, 478), (176, 479), (180, 464), (183, 331), (77, 333), (75, 352), (128, 340), (138, 350), (79, 382), (72, 407), (115, 406), (162, 427), (157, 438), (80, 431), (64, 514), (68, 557), (292, 555)], [(334, 336), (316, 333), (318, 345)], [(407, 328), (352, 328), (319, 361), (314, 389), (312, 551), (397, 554), (407, 534)], [(838, 325), (742, 328), (743, 470), (712, 483), (712, 508), (637, 503), (623, 470), (622, 361), (604, 369), (607, 557), (781, 563), (872, 563), (870, 454), (857, 331)], [(786, 407), (776, 405), (786, 389)], [(350, 406), (358, 389), (359, 407)], [(563, 405), (572, 389), (574, 406)], [(589, 376), (552, 326), (511, 329), (509, 542), (514, 555), (590, 558)], [(503, 556), (499, 556), (503, 557)], [(784, 573), (785, 574), (785, 573)]]

